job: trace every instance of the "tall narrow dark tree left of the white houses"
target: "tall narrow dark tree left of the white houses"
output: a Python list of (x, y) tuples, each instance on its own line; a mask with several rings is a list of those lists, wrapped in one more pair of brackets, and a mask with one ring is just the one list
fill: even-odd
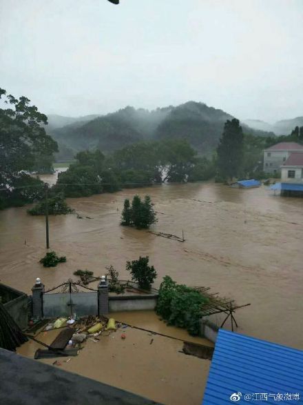
[(242, 172), (244, 135), (240, 122), (233, 118), (224, 124), (222, 137), (217, 147), (218, 172), (223, 178), (232, 179)]

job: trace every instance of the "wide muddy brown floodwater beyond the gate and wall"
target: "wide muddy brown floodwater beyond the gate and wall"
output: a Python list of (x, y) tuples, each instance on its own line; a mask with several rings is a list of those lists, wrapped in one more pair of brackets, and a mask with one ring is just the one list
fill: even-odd
[[(123, 201), (151, 195), (158, 211), (154, 230), (184, 243), (119, 226)], [(199, 200), (199, 201), (198, 201)], [(26, 209), (0, 212), (1, 282), (30, 293), (36, 277), (47, 288), (76, 269), (105, 273), (112, 264), (128, 277), (127, 260), (149, 255), (163, 276), (251, 303), (236, 313), (240, 333), (303, 348), (302, 199), (274, 196), (264, 187), (237, 190), (221, 184), (163, 185), (69, 199), (76, 215), (50, 217), (50, 247), (67, 262), (43, 268), (43, 217)], [(85, 218), (85, 217), (90, 217)], [(300, 320), (301, 319), (301, 320)]]

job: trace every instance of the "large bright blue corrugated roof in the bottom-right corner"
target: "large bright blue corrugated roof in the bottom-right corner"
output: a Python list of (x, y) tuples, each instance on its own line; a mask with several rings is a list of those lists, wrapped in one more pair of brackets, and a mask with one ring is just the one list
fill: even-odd
[[(233, 393), (240, 400), (232, 401)], [(267, 399), (261, 400), (261, 393)], [(202, 405), (232, 402), (302, 404), (303, 351), (220, 329)]]

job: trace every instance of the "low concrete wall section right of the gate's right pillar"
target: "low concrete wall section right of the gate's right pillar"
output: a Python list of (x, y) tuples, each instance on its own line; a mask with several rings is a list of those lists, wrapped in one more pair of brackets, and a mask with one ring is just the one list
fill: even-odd
[(109, 313), (127, 310), (154, 310), (158, 295), (109, 296)]

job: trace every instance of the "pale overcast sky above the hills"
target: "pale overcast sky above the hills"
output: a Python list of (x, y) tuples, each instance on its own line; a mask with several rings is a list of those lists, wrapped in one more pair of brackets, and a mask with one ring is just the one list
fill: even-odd
[(303, 0), (0, 0), (0, 27), (0, 87), (46, 114), (303, 115)]

